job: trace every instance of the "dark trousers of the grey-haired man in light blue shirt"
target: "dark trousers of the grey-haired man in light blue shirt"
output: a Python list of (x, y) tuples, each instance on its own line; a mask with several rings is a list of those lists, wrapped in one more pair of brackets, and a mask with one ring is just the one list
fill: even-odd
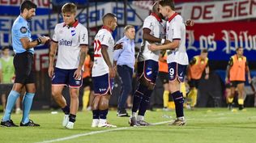
[(126, 108), (126, 100), (132, 90), (133, 69), (127, 65), (117, 65), (117, 73), (122, 82), (122, 94), (118, 98), (118, 110)]

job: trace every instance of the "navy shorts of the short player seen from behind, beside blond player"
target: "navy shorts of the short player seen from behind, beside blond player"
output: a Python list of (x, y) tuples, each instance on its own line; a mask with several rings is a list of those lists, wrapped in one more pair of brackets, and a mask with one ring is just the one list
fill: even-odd
[(113, 78), (109, 78), (109, 74), (104, 74), (98, 77), (92, 77), (94, 95), (112, 95)]

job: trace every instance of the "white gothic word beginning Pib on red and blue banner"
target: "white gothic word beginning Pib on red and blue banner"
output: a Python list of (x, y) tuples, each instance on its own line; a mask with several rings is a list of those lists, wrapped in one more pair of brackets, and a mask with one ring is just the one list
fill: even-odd
[(226, 43), (223, 51), (225, 53), (231, 53), (236, 51), (237, 47), (244, 47), (246, 50), (256, 50), (256, 35), (248, 36), (248, 32), (240, 32), (237, 36), (237, 33), (234, 31), (221, 31), (224, 33), (223, 40)]

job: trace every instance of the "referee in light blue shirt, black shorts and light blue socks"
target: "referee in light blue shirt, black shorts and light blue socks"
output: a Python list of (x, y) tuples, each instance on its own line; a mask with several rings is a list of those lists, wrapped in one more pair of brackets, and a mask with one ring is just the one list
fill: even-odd
[(31, 32), (28, 27), (28, 20), (36, 15), (36, 4), (25, 0), (20, 6), (20, 15), (11, 28), (12, 45), (15, 52), (15, 84), (8, 96), (6, 110), (2, 117), (1, 125), (6, 127), (17, 127), (11, 120), (11, 110), (19, 98), (20, 92), (25, 86), (26, 94), (23, 97), (23, 118), (20, 126), (40, 126), (29, 120), (29, 111), (32, 106), (32, 99), (36, 92), (35, 78), (32, 71), (34, 48), (39, 44), (45, 44), (49, 37), (41, 36), (36, 40), (31, 39)]

